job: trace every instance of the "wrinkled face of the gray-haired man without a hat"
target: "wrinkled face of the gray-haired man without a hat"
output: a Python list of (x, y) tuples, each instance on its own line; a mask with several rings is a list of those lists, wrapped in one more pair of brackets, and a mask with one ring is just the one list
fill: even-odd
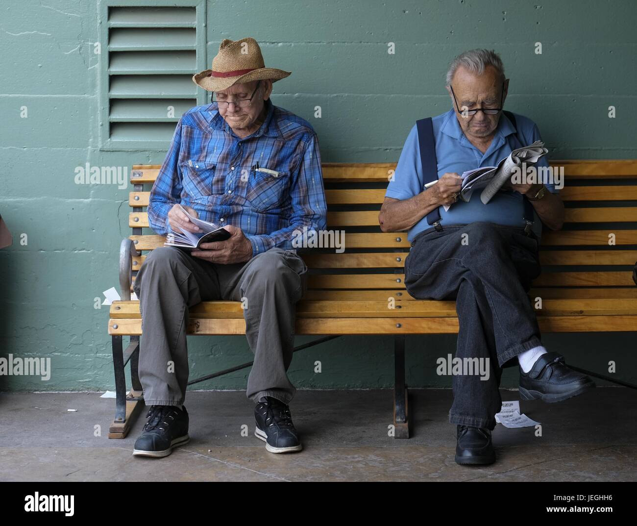
[[(452, 104), (456, 110), (455, 116), (458, 119), (460, 127), (464, 135), (473, 138), (489, 137), (496, 131), (497, 123), (500, 120), (501, 112), (496, 115), (487, 115), (484, 112), (478, 112), (475, 115), (462, 115), (463, 110), (473, 110), (475, 108), (501, 108), (503, 101), (503, 79), (493, 66), (487, 66), (482, 75), (472, 73), (464, 67), (456, 69), (451, 87), (454, 90), (457, 108), (454, 103), (454, 97), (450, 89), (449, 95), (452, 98)], [(508, 88), (508, 80), (504, 84), (504, 98), (506, 99), (506, 90)]]

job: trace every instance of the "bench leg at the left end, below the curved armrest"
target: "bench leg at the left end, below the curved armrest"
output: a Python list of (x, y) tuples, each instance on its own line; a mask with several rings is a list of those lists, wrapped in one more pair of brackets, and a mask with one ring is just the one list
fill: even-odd
[[(134, 420), (144, 405), (143, 393), (138, 376), (137, 364), (140, 354), (139, 338), (131, 338), (124, 351), (122, 337), (113, 336), (113, 370), (115, 372), (115, 420), (108, 428), (108, 438), (125, 438)], [(132, 389), (126, 395), (125, 365), (131, 360)]]

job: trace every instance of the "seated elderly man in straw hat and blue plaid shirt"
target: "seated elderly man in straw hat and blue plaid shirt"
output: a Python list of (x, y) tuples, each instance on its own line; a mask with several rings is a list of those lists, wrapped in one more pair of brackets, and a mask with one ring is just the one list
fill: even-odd
[(301, 449), (287, 405), (296, 391), (287, 369), (307, 267), (292, 240), (304, 227), (325, 228), (326, 201), (313, 128), (269, 99), (272, 83), (289, 75), (266, 68), (257, 42), (242, 38), (222, 41), (212, 68), (192, 77), (216, 100), (179, 119), (148, 219), (161, 235), (201, 234), (185, 209), (230, 235), (192, 252), (155, 249), (138, 272), (139, 372), (150, 411), (134, 455), (166, 457), (189, 441), (188, 307), (203, 300), (241, 302), (255, 355), (247, 388), (257, 404), (255, 435), (272, 453)]

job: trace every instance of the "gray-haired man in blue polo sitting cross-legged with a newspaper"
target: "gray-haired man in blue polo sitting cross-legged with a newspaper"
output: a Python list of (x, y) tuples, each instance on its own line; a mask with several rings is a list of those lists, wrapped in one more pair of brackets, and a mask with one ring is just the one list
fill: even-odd
[[(489, 373), (454, 375), (449, 421), (457, 425), (458, 464), (496, 460), (490, 431), (501, 409), (503, 367), (519, 365), (523, 400), (559, 402), (595, 385), (542, 346), (527, 296), (541, 272), (541, 225), (559, 230), (564, 221), (555, 185), (508, 182), (486, 205), (477, 192), (468, 202), (457, 201), (459, 174), (495, 166), (513, 149), (540, 139), (531, 119), (503, 113), (508, 84), (493, 51), (471, 50), (454, 59), (447, 73), (452, 109), (431, 119), (435, 161), (426, 148), (421, 150), (427, 136), (419, 142), (419, 127), (413, 126), (379, 216), (383, 231), (409, 231), (407, 291), (423, 300), (455, 299), (460, 324), (456, 357), (463, 363), (478, 358)], [(427, 135), (426, 129), (420, 128), (420, 134)], [(545, 157), (537, 166), (547, 166)], [(438, 180), (425, 188), (432, 179)], [(445, 210), (442, 205), (451, 206)], [(436, 210), (440, 215), (432, 218)]]

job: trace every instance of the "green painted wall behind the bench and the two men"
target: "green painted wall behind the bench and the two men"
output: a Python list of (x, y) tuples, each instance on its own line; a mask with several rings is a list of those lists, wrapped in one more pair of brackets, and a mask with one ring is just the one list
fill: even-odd
[[(74, 170), (161, 163), (163, 154), (99, 149), (98, 12), (80, 0), (1, 6), (0, 214), (14, 244), (0, 250), (0, 356), (52, 363), (50, 380), (4, 376), (2, 391), (113, 388), (108, 308), (94, 309), (94, 298), (118, 287), (130, 188), (76, 185)], [(538, 123), (553, 158), (635, 158), (636, 22), (626, 0), (211, 1), (206, 62), (223, 38), (254, 36), (266, 65), (293, 72), (275, 84), (273, 101), (313, 122), (324, 161), (396, 161), (415, 119), (450, 107), (443, 77), (454, 55), (495, 48), (511, 78), (508, 109)], [(600, 372), (616, 360), (617, 376), (634, 382), (635, 337), (547, 335), (545, 344)], [(450, 386), (434, 366), (455, 336), (410, 337), (407, 349), (410, 386)], [(190, 338), (192, 377), (250, 356), (243, 337)], [(387, 387), (392, 360), (390, 337), (346, 337), (298, 353), (290, 376), (301, 388)], [(199, 385), (246, 380), (247, 370)], [(507, 370), (503, 386), (516, 385)]]

